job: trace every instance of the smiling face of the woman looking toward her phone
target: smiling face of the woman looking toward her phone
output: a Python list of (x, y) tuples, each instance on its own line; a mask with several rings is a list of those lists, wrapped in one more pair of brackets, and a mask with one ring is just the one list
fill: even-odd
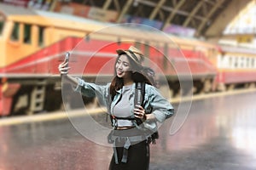
[(131, 63), (126, 54), (121, 54), (117, 59), (115, 71), (119, 78), (131, 78)]

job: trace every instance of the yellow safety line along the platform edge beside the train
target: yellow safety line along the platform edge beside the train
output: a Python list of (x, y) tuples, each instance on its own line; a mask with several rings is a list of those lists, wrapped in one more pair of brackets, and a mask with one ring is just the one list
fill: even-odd
[[(230, 92), (222, 92), (222, 93), (214, 93), (214, 94), (198, 94), (191, 97), (183, 97), (177, 99), (170, 99), (172, 104), (185, 102), (185, 101), (194, 101), (199, 99), (209, 99), (213, 97), (225, 96), (225, 95), (232, 95), (232, 94), (244, 94), (244, 93), (253, 93), (256, 92), (256, 89), (242, 89)], [(106, 108), (96, 108), (96, 109), (87, 109), (87, 110), (73, 110), (68, 111), (55, 111), (47, 114), (38, 114), (32, 116), (14, 116), (14, 117), (3, 117), (0, 119), (0, 127), (1, 126), (9, 126), (15, 124), (22, 124), (22, 123), (29, 123), (29, 122), (44, 122), (44, 121), (52, 121), (56, 119), (68, 119), (68, 117), (74, 116), (84, 116), (86, 114), (97, 114), (106, 112)]]

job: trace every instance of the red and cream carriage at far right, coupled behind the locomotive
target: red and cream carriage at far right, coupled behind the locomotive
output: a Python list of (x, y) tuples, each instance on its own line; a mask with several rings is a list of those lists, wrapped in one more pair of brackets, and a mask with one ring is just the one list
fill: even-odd
[(218, 90), (255, 88), (256, 51), (253, 48), (221, 46), (217, 56)]

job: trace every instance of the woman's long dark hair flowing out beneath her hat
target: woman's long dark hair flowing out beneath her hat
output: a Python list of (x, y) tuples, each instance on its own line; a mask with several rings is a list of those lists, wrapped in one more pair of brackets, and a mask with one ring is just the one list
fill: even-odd
[[(126, 56), (127, 56), (127, 54), (126, 54)], [(121, 89), (124, 86), (123, 78), (117, 77), (116, 69), (115, 69), (115, 65), (116, 65), (119, 57), (120, 57), (120, 55), (115, 60), (114, 77), (110, 84), (110, 94), (112, 96), (112, 99), (115, 96), (116, 91)], [(149, 68), (143, 67), (143, 65), (137, 65), (137, 63), (133, 59), (131, 59), (129, 56), (127, 56), (127, 58), (129, 59), (129, 62), (131, 65), (130, 72), (131, 72), (131, 79), (133, 80), (133, 82), (145, 82), (145, 83), (148, 83), (149, 85), (154, 85), (154, 82), (152, 82), (153, 80), (150, 81), (149, 80), (150, 78), (148, 78), (147, 73), (145, 73), (145, 71)]]

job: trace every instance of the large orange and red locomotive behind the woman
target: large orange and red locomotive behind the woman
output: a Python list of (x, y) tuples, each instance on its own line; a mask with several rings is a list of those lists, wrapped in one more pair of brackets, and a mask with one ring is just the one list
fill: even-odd
[[(113, 64), (115, 49), (127, 48), (132, 44), (140, 48), (156, 67), (161, 68), (172, 96), (180, 93), (178, 78), (186, 81), (186, 76), (190, 74), (195, 93), (214, 91), (218, 82), (225, 84), (223, 74), (218, 74), (217, 70), (218, 59), (222, 59), (219, 55), (224, 54), (218, 45), (174, 36), (162, 39), (155, 32), (123, 26), (103, 29), (106, 26), (113, 25), (1, 4), (0, 115), (60, 109), (61, 78), (57, 65), (63, 60), (64, 54), (73, 48), (78, 53), (72, 54), (71, 65), (76, 66), (71, 72), (81, 73), (78, 68), (84, 68), (84, 63), (87, 63), (82, 76), (88, 81), (96, 80), (102, 68), (105, 69), (102, 76), (112, 77), (113, 70), (108, 69), (108, 65), (106, 68), (106, 64)], [(185, 58), (180, 56), (172, 41), (176, 42)], [(86, 44), (82, 49), (77, 46), (80, 42)], [(108, 48), (104, 47), (106, 44), (110, 44)], [(90, 58), (92, 55), (93, 58)], [(189, 71), (183, 70), (186, 63)], [(250, 77), (248, 80), (255, 82), (256, 78)]]

